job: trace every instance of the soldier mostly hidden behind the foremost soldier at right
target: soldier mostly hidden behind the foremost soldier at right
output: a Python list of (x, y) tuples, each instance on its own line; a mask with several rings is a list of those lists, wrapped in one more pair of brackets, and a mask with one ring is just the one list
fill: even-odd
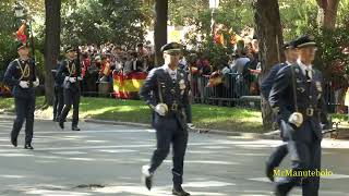
[[(285, 44), (282, 48), (286, 57), (286, 62), (274, 65), (261, 85), (261, 91), (265, 98), (269, 97), (269, 93), (278, 71), (281, 68), (285, 68), (287, 65), (292, 65), (297, 62), (298, 53), (297, 53), (297, 49), (294, 48), (294, 41)], [(276, 119), (275, 121), (277, 123)], [(282, 137), (282, 130), (281, 130), (281, 137)], [(274, 176), (273, 176), (274, 169), (281, 163), (282, 159), (287, 156), (287, 154), (288, 154), (287, 145), (282, 144), (276, 148), (276, 150), (270, 155), (269, 159), (267, 160), (266, 175), (270, 181), (274, 181)]]

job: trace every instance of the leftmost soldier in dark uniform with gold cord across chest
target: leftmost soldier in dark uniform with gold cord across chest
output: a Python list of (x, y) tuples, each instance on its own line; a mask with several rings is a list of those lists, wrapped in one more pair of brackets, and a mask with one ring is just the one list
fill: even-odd
[(11, 143), (17, 146), (17, 136), (25, 120), (25, 149), (34, 149), (32, 146), (34, 111), (35, 111), (35, 87), (39, 85), (36, 77), (35, 62), (29, 59), (29, 48), (26, 44), (19, 44), (20, 58), (9, 64), (4, 74), (4, 82), (12, 86), (16, 119), (11, 132)]

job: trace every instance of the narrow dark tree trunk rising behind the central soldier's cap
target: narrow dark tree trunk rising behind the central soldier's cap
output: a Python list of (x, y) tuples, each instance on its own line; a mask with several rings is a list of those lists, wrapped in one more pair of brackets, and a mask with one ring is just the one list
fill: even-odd
[(155, 65), (164, 64), (161, 46), (167, 44), (168, 0), (156, 0), (156, 19), (154, 28)]

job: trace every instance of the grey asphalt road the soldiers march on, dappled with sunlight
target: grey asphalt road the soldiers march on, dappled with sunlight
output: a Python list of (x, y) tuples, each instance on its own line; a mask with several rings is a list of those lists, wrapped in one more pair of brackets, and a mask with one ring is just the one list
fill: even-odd
[[(166, 196), (171, 191), (171, 156), (155, 175), (148, 192), (141, 167), (155, 147), (153, 130), (81, 123), (81, 132), (61, 131), (51, 121), (35, 122), (35, 150), (10, 145), (12, 122), (0, 119), (0, 195)], [(67, 123), (70, 127), (70, 123)], [(273, 184), (264, 176), (265, 161), (277, 140), (254, 140), (191, 133), (183, 187), (196, 196), (265, 196)], [(349, 143), (323, 142), (322, 196), (349, 195)], [(284, 161), (289, 166), (289, 160)], [(301, 195), (299, 188), (291, 195)]]

